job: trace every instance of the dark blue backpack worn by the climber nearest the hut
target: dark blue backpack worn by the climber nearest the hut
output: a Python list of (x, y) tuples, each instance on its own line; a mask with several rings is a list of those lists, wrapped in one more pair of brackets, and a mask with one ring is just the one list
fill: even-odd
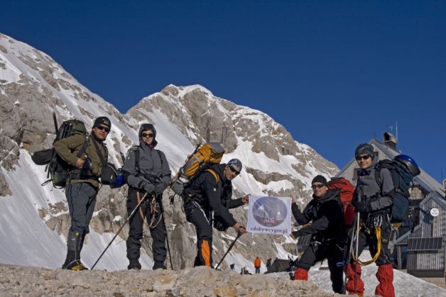
[(394, 188), (391, 223), (402, 223), (408, 219), (410, 183), (414, 176), (420, 174), (420, 169), (415, 161), (406, 155), (398, 155), (393, 160), (381, 160), (375, 165), (375, 179), (379, 185), (381, 185), (380, 172), (383, 168), (390, 172)]

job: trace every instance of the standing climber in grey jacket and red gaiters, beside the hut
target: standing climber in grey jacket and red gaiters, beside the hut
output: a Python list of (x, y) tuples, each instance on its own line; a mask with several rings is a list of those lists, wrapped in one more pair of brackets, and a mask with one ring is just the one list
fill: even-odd
[[(378, 248), (380, 248), (379, 257), (375, 262), (378, 265), (376, 279), (379, 281), (375, 294), (383, 297), (394, 297), (393, 267), (391, 252), (388, 250), (388, 241), (391, 235), (389, 217), (393, 203), (392, 194), (395, 191), (392, 176), (386, 168), (376, 172), (375, 165), (378, 162), (378, 157), (374, 154), (374, 147), (368, 143), (359, 145), (355, 150), (354, 157), (361, 169), (358, 173), (357, 187), (352, 200), (352, 204), (356, 211), (360, 213), (359, 216), (361, 218), (357, 254), (359, 257), (368, 245), (371, 257), (374, 257), (378, 252)], [(376, 179), (376, 176), (379, 176), (379, 179)], [(379, 243), (376, 237), (377, 228), (381, 230), (381, 243)], [(355, 235), (352, 233), (349, 236), (349, 240), (352, 240)], [(349, 295), (354, 293), (359, 296), (364, 295), (361, 267), (357, 266), (355, 275), (354, 259), (347, 265), (347, 280), (345, 287)]]

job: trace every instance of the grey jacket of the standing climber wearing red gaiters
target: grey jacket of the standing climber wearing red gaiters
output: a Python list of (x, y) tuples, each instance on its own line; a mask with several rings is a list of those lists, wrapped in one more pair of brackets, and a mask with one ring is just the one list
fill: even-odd
[(371, 213), (377, 211), (391, 211), (393, 204), (393, 181), (388, 169), (383, 168), (379, 172), (381, 184), (375, 179), (375, 165), (378, 163), (378, 157), (374, 157), (371, 166), (362, 169), (358, 174), (357, 187), (354, 191), (353, 205), (361, 198), (361, 201), (369, 204)]

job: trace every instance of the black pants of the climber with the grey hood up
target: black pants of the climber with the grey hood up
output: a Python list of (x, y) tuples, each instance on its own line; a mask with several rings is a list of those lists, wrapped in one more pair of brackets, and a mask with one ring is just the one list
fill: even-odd
[[(140, 198), (143, 198), (143, 194), (140, 194)], [(161, 201), (158, 199), (158, 201)], [(164, 267), (164, 261), (167, 254), (165, 248), (165, 225), (161, 218), (161, 202), (156, 202), (156, 212), (151, 213), (152, 198), (148, 196), (141, 204), (141, 210), (137, 210), (134, 216), (129, 220), (129, 237), (126, 240), (127, 245), (127, 259), (129, 259), (130, 265), (139, 263), (139, 257), (141, 255), (141, 239), (143, 238), (143, 216), (146, 216), (146, 221), (150, 225), (151, 218), (153, 218), (152, 227), (150, 228), (152, 236), (152, 252), (153, 252), (153, 268)], [(138, 205), (138, 198), (136, 191), (129, 192), (127, 197), (127, 215)], [(141, 216), (141, 213), (143, 216)]]

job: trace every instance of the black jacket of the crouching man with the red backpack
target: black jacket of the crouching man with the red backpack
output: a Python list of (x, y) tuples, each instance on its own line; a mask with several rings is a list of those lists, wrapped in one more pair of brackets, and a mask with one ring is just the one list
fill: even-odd
[(295, 220), (300, 225), (312, 222), (311, 225), (293, 232), (293, 235), (297, 237), (312, 234), (317, 241), (344, 240), (344, 211), (342, 210), (340, 193), (340, 189), (332, 189), (320, 198), (313, 195), (312, 200), (305, 206), (303, 212), (293, 203), (291, 211)]

